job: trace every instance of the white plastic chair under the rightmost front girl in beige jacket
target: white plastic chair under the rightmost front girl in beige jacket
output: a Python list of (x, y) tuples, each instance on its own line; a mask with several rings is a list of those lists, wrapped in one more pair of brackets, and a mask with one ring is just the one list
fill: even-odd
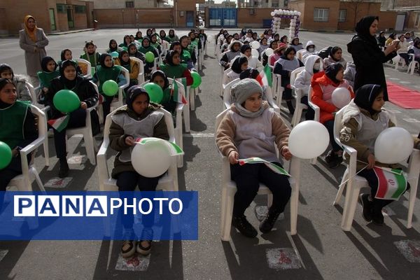
[[(356, 161), (357, 161), (357, 151), (356, 149), (346, 146), (339, 141), (339, 132), (342, 129), (342, 117), (346, 106), (340, 109), (335, 114), (334, 121), (334, 138), (335, 142), (342, 146), (344, 149), (344, 154), (349, 155), (349, 165), (344, 172), (344, 176), (341, 182), (341, 186), (337, 192), (337, 195), (334, 200), (334, 205), (339, 203), (339, 200), (342, 196), (344, 188), (346, 190), (346, 201), (344, 202), (343, 207), (343, 216), (341, 228), (344, 231), (351, 230), (351, 224), (353, 223), (354, 213), (356, 211), (356, 204), (358, 201), (358, 196), (360, 193), (360, 188), (369, 187), (367, 181), (362, 176), (356, 175)], [(391, 115), (392, 120), (392, 115)], [(412, 154), (409, 158), (409, 164), (407, 169), (407, 182), (410, 185), (409, 189), (409, 205), (408, 205), (408, 215), (407, 215), (407, 228), (412, 228), (412, 217), (414, 212), (414, 203), (416, 202), (416, 193), (417, 193), (417, 184), (419, 182), (419, 172), (420, 172), (420, 151), (413, 149)], [(347, 181), (343, 184), (344, 181)]]

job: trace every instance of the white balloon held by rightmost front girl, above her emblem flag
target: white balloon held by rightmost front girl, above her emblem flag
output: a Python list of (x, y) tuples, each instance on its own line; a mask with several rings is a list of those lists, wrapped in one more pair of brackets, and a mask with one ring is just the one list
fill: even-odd
[(402, 127), (389, 127), (374, 142), (374, 157), (378, 162), (393, 164), (406, 160), (413, 151), (414, 140)]

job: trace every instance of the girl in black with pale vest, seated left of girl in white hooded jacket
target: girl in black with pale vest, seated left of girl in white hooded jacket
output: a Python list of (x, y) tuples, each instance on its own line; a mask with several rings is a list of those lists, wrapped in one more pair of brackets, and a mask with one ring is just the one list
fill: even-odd
[(295, 57), (296, 51), (292, 47), (286, 48), (283, 55), (274, 64), (273, 73), (281, 75), (281, 86), (284, 88), (282, 99), (286, 101), (290, 115), (295, 113), (292, 104), (292, 88), (290, 87), (290, 73), (293, 70), (304, 66), (304, 64)]

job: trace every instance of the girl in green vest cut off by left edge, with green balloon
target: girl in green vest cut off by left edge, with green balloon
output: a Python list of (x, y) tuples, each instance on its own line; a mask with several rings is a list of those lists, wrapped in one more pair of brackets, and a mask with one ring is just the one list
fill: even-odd
[[(11, 80), (0, 78), (0, 192), (6, 191), (10, 180), (22, 174), (19, 151), (37, 137), (36, 120), (29, 104), (18, 100)], [(2, 207), (0, 194), (0, 213)]]

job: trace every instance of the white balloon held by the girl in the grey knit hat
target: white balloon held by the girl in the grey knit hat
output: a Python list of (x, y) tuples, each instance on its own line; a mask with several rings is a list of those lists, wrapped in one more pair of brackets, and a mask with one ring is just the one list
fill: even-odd
[(330, 138), (325, 126), (314, 120), (306, 120), (293, 127), (288, 139), (288, 148), (297, 158), (310, 159), (321, 155), (329, 143)]

